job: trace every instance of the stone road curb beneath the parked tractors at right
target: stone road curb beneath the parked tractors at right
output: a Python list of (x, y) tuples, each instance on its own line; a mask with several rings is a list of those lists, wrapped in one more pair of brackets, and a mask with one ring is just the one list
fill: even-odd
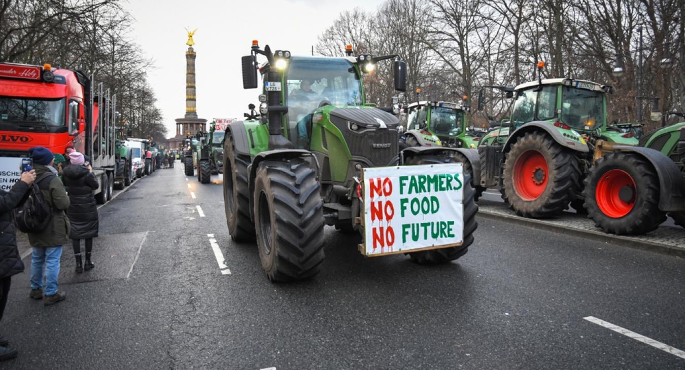
[(547, 222), (535, 220), (532, 218), (523, 218), (515, 215), (503, 215), (501, 213), (492, 211), (479, 210), (477, 215), (492, 220), (506, 220), (507, 222), (512, 222), (514, 224), (519, 224), (523, 226), (535, 226), (536, 228), (540, 228), (542, 230), (552, 231), (555, 233), (562, 233), (564, 235), (572, 235), (576, 237), (593, 239), (595, 241), (612, 243), (616, 246), (625, 246), (628, 248), (647, 250), (649, 252), (656, 252), (660, 254), (668, 254), (669, 256), (685, 258), (685, 248), (677, 248), (662, 243), (642, 241), (638, 239), (632, 239), (630, 237), (623, 237), (621, 235), (609, 235), (601, 233), (599, 231), (580, 230), (577, 228), (549, 224)]

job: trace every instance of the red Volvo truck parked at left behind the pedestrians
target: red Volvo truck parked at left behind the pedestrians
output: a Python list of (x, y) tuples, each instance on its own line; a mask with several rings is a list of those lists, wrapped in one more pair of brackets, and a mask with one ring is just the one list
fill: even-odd
[(78, 70), (0, 63), (0, 189), (19, 179), (21, 158), (44, 146), (66, 146), (90, 157), (97, 202), (112, 198), (115, 174), (116, 96)]

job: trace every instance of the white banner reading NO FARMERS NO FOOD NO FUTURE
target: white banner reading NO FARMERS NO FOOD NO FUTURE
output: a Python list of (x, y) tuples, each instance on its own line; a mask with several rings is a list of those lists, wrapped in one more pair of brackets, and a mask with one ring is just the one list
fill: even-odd
[(462, 243), (461, 163), (364, 168), (362, 179), (366, 256)]

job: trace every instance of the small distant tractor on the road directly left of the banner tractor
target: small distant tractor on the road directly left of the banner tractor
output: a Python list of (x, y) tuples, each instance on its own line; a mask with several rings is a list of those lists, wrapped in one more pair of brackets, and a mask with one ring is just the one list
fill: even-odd
[(198, 133), (197, 144), (192, 152), (193, 167), (197, 168), (197, 181), (210, 183), (213, 174), (223, 172), (223, 136), (225, 131), (215, 130), (216, 122), (210, 124), (210, 131)]

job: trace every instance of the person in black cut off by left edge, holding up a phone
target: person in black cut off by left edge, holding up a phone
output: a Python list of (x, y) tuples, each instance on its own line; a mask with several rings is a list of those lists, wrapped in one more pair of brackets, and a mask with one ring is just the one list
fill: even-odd
[[(24, 271), (14, 233), (14, 208), (24, 198), (29, 185), (36, 180), (36, 171), (24, 172), (10, 191), (0, 190), (0, 319), (2, 319), (10, 295), (12, 275)], [(0, 361), (16, 357), (16, 349), (8, 348), (7, 338), (0, 335)]]

